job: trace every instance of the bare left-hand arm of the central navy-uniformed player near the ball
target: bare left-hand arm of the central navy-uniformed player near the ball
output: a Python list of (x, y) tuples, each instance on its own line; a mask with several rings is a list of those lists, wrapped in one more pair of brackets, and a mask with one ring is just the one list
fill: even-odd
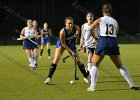
[(64, 29), (61, 29), (60, 31), (60, 34), (59, 34), (59, 37), (60, 37), (60, 41), (61, 41), (61, 44), (62, 46), (71, 54), (75, 55), (75, 53), (66, 45), (65, 43), (65, 32), (64, 32)]

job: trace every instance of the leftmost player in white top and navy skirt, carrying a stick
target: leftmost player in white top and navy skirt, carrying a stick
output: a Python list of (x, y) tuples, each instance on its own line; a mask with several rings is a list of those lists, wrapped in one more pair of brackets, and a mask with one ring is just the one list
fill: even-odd
[(34, 59), (32, 57), (32, 50), (34, 52), (34, 56), (37, 56), (37, 45), (33, 42), (29, 41), (28, 38), (30, 38), (32, 41), (35, 41), (35, 38), (37, 37), (36, 30), (32, 27), (32, 20), (27, 20), (27, 27), (24, 27), (21, 31), (20, 38), (24, 39), (23, 46), (25, 49), (25, 52), (28, 56), (29, 62), (31, 63), (32, 69), (36, 68), (36, 65), (34, 63)]

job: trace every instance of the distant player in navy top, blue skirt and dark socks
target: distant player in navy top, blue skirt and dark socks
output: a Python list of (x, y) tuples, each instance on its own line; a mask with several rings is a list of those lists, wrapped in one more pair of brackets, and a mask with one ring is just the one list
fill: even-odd
[(50, 36), (52, 35), (51, 29), (48, 27), (47, 23), (44, 23), (43, 25), (43, 29), (41, 30), (41, 33), (43, 34), (43, 39), (41, 39), (41, 49), (40, 49), (40, 59), (42, 58), (42, 54), (43, 54), (43, 49), (44, 49), (44, 45), (46, 45), (47, 47), (47, 51), (48, 51), (48, 59), (51, 58), (51, 51), (50, 51)]

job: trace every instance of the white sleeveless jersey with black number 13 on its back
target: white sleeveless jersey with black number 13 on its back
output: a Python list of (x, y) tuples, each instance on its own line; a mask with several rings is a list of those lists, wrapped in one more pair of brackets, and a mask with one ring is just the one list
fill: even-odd
[(118, 23), (110, 17), (104, 16), (100, 18), (100, 36), (117, 37)]

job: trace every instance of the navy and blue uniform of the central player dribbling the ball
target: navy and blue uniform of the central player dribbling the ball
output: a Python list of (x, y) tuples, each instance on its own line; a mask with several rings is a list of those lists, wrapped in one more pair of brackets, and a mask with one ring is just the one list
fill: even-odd
[[(76, 45), (75, 45), (75, 41), (76, 41), (76, 28), (73, 26), (72, 31), (70, 33), (68, 33), (66, 27), (64, 27), (64, 31), (65, 31), (65, 43), (66, 45), (72, 50), (72, 51), (76, 51)], [(59, 48), (60, 46), (62, 46), (60, 39), (57, 40), (56, 43), (56, 48)]]

